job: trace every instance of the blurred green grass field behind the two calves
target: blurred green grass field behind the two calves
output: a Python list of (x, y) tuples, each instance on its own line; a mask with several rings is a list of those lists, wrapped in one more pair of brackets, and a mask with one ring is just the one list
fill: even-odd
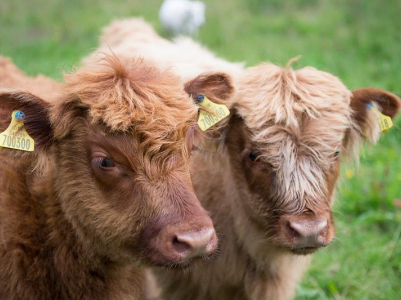
[[(205, 0), (199, 41), (252, 65), (312, 65), (350, 88), (401, 95), (399, 0)], [(161, 0), (1, 0), (0, 55), (30, 75), (61, 77), (97, 45), (112, 19), (143, 15), (157, 29)], [(401, 299), (401, 118), (359, 168), (342, 167), (334, 207), (337, 238), (314, 256), (297, 299)], [(353, 171), (351, 174), (350, 170)]]

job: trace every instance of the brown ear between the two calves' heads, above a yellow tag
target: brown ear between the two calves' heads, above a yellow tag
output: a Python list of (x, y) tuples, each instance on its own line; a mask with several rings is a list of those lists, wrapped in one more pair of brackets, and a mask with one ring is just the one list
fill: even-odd
[(225, 73), (202, 73), (184, 85), (185, 91), (194, 99), (205, 94), (213, 101), (222, 103), (234, 93), (233, 79)]

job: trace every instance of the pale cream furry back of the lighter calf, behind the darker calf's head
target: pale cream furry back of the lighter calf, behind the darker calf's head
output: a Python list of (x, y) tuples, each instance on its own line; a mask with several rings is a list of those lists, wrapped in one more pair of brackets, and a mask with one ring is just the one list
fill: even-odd
[[(134, 56), (143, 57), (156, 63), (161, 69), (171, 68), (184, 81), (205, 71), (227, 72), (236, 78), (244, 67), (242, 62), (231, 63), (218, 58), (188, 37), (177, 37), (174, 46), (171, 45), (170, 41), (160, 37), (143, 19), (122, 19), (103, 29), (99, 47), (85, 57), (84, 61), (97, 60), (99, 54), (110, 53), (112, 49), (124, 61), (131, 61)], [(198, 54), (202, 56), (199, 60), (194, 60)], [(185, 67), (182, 68), (182, 65)]]

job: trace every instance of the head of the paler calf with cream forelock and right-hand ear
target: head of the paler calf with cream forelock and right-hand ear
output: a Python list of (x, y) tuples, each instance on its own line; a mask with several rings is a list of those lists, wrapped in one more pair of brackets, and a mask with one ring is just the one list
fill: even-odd
[(220, 136), (239, 209), (269, 244), (298, 254), (327, 245), (334, 237), (331, 205), (340, 156), (355, 153), (361, 140), (378, 139), (370, 102), (392, 118), (400, 100), (381, 89), (351, 92), (312, 67), (268, 63), (248, 68), (237, 87)]

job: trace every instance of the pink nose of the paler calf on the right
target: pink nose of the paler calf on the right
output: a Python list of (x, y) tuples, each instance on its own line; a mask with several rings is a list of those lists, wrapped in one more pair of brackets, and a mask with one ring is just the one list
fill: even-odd
[(291, 246), (321, 247), (327, 245), (332, 239), (328, 236), (327, 218), (290, 215), (284, 217), (282, 226)]

